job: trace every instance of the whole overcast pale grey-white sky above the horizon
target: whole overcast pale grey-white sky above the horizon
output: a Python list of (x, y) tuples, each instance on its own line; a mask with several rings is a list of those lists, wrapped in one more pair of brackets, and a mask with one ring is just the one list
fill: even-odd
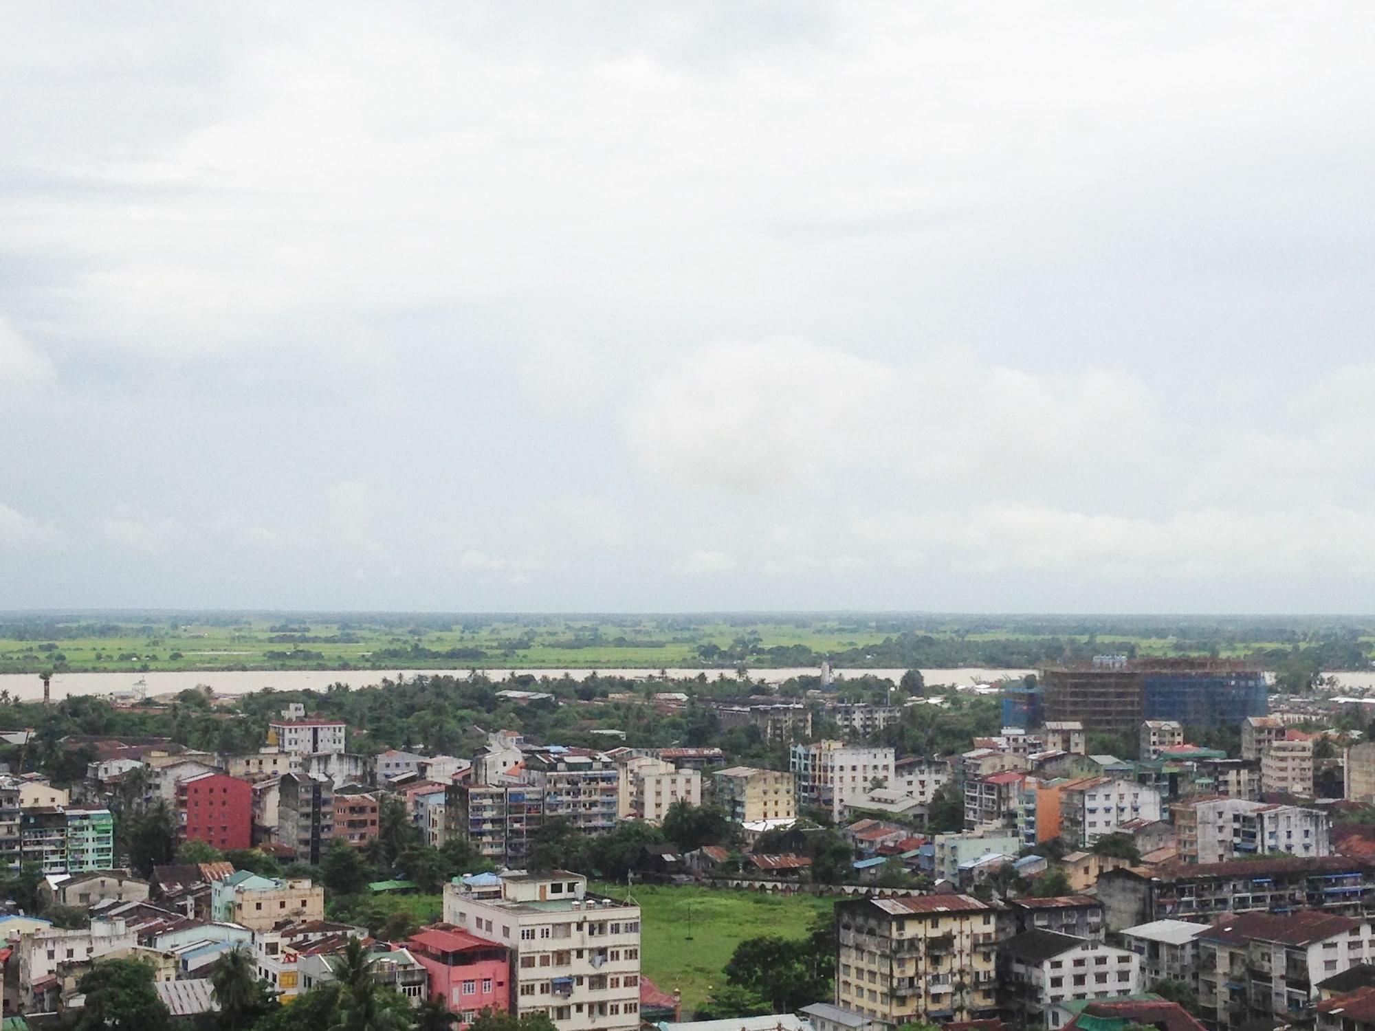
[(0, 608), (1375, 610), (1368, 4), (4, 21)]

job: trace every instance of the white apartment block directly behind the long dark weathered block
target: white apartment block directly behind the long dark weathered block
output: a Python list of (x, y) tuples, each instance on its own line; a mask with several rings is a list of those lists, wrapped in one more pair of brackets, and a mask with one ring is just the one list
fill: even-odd
[(1178, 801), (1170, 811), (1181, 862), (1332, 854), (1332, 821), (1321, 810), (1217, 797)]

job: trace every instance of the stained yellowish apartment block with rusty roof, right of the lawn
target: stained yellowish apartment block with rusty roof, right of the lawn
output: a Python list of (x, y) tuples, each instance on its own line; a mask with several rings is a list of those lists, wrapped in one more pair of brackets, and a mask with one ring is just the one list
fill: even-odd
[(968, 895), (836, 902), (836, 1005), (890, 1026), (997, 1016), (998, 910)]

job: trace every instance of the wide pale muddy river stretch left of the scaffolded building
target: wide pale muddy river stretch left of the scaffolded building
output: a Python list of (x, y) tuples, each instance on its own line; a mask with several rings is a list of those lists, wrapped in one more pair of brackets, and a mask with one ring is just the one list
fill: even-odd
[[(368, 687), (381, 683), (384, 679), (419, 675), (450, 675), (468, 676), (468, 669), (231, 669), (213, 672), (206, 669), (191, 669), (187, 672), (151, 672), (151, 674), (58, 674), (52, 678), (52, 697), (66, 698), (74, 694), (110, 694), (111, 691), (128, 690), (136, 680), (146, 680), (148, 696), (176, 693), (198, 685), (209, 685), (221, 694), (246, 694), (264, 687), (275, 687), (279, 691), (316, 690), (323, 691), (331, 683), (346, 683), (351, 687)], [(630, 676), (645, 679), (657, 676), (657, 669), (484, 669), (495, 680), (503, 680), (512, 675), (532, 674), (535, 676), (571, 676), (582, 680), (593, 672), (606, 676)], [(715, 679), (720, 672), (733, 678), (733, 671), (720, 669), (668, 669), (672, 678), (697, 676), (705, 672)], [(840, 676), (887, 676), (896, 683), (906, 669), (835, 669)], [(923, 669), (921, 675), (928, 685), (952, 685), (956, 687), (971, 687), (976, 683), (989, 683), (1008, 676), (1024, 676), (1031, 669), (983, 669), (965, 667), (960, 669)], [(749, 676), (766, 683), (782, 683), (792, 676), (818, 676), (821, 669), (815, 667), (793, 667), (785, 669), (751, 669)], [(41, 698), (43, 682), (34, 674), (0, 674), (0, 690), (7, 690), (12, 697)]]

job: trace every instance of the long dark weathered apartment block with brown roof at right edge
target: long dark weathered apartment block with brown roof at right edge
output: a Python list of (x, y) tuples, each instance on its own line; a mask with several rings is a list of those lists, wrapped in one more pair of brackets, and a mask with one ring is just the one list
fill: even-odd
[(1343, 855), (1122, 867), (1099, 877), (1097, 896), (1110, 931), (1152, 920), (1292, 909), (1363, 916), (1375, 913), (1375, 867)]

